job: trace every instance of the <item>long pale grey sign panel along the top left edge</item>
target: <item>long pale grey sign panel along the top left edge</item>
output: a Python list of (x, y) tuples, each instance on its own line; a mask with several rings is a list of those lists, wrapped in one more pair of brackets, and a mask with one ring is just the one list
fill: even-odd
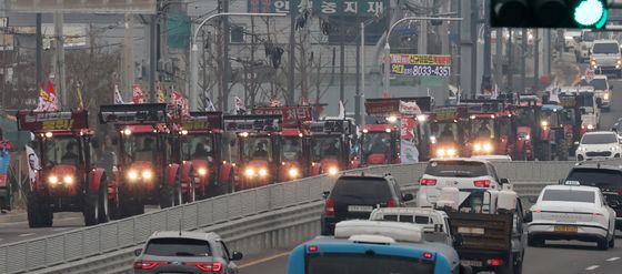
[(157, 0), (6, 0), (11, 12), (154, 14)]

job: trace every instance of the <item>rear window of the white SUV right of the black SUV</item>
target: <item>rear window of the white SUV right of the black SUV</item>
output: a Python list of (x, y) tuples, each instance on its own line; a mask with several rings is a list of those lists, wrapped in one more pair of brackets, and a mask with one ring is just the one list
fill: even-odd
[(478, 177), (488, 175), (484, 163), (475, 161), (431, 161), (425, 174), (445, 177)]

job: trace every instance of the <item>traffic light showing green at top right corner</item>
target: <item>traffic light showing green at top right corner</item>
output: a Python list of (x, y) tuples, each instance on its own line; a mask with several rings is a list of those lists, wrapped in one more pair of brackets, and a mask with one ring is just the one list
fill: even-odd
[(491, 0), (493, 28), (602, 29), (605, 0)]

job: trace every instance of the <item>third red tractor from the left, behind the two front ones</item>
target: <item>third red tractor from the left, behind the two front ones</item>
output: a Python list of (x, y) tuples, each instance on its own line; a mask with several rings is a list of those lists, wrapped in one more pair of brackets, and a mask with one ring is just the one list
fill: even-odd
[[(188, 200), (198, 200), (225, 194), (232, 187), (233, 166), (223, 160), (222, 112), (190, 112), (182, 118), (172, 139), (174, 163), (190, 169), (185, 171), (194, 177), (194, 187), (182, 184)], [(191, 163), (191, 166), (184, 163)]]

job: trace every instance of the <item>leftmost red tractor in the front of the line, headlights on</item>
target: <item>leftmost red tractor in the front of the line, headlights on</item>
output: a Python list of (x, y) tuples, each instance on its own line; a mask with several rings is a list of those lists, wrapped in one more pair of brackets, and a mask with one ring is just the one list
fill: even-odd
[[(28, 193), (29, 226), (49, 227), (53, 213), (66, 211), (82, 212), (87, 225), (108, 222), (117, 187), (91, 162), (96, 142), (87, 112), (20, 111), (17, 119), (19, 130), (33, 133), (33, 150), (41, 159)], [(37, 155), (29, 161), (38, 162)]]

